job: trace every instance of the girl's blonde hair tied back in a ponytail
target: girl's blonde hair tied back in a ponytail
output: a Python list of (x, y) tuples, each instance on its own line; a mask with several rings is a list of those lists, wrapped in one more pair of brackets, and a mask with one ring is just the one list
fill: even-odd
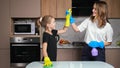
[(46, 15), (43, 18), (40, 18), (40, 24), (42, 27), (46, 28), (46, 25), (51, 22), (51, 19), (54, 18), (51, 15)]

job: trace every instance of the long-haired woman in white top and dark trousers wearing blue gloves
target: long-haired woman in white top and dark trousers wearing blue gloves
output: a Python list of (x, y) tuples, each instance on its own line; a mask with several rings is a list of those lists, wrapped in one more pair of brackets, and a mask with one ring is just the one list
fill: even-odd
[[(107, 4), (104, 1), (95, 2), (92, 15), (80, 25), (74, 22), (71, 25), (74, 31), (86, 30), (84, 41), (87, 43), (82, 50), (83, 61), (104, 61), (105, 47), (112, 42), (113, 29), (108, 22)], [(97, 53), (97, 54), (96, 54)]]

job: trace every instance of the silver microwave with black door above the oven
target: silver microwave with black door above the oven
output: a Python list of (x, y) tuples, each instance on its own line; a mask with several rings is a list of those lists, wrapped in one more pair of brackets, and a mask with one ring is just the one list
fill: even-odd
[(35, 23), (14, 23), (14, 34), (35, 34)]

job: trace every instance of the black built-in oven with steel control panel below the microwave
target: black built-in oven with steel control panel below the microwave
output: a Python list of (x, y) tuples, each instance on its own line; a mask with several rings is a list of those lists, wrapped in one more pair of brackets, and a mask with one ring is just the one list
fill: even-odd
[(38, 37), (10, 38), (11, 67), (24, 66), (33, 61), (40, 61), (40, 40)]

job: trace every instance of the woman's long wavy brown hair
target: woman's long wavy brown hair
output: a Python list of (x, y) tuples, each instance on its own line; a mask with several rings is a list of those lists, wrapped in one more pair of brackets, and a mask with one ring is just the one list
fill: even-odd
[[(106, 25), (106, 21), (108, 22), (108, 6), (104, 1), (97, 1), (94, 3), (96, 5), (96, 11), (98, 14), (98, 27), (104, 27)], [(90, 16), (91, 20), (94, 21), (94, 16)]]

